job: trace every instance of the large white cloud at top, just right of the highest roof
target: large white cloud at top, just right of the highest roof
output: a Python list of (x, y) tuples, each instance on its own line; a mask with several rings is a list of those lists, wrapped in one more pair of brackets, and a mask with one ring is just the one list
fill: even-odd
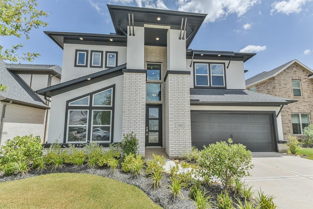
[(179, 11), (207, 14), (204, 22), (215, 22), (235, 13), (244, 15), (259, 0), (177, 0)]

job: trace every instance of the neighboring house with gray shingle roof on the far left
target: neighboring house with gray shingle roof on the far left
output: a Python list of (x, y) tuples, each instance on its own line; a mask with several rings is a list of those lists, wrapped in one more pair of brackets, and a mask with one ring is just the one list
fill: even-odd
[(61, 82), (57, 65), (8, 64), (0, 60), (0, 147), (20, 135), (39, 136), (45, 141), (49, 102), (34, 91)]

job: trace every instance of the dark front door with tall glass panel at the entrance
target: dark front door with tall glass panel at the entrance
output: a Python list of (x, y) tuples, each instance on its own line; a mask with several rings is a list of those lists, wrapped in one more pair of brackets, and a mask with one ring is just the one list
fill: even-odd
[(162, 106), (147, 105), (146, 146), (162, 146)]

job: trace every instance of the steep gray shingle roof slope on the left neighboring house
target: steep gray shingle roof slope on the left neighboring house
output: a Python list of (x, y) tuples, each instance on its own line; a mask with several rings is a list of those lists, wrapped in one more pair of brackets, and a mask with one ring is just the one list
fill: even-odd
[(0, 83), (8, 87), (0, 96), (16, 103), (48, 108), (40, 97), (34, 93), (14, 72), (6, 69), (6, 63), (0, 60)]

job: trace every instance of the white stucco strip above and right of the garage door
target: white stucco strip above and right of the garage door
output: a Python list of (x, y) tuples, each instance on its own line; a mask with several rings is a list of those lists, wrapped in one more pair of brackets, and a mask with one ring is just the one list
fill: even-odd
[[(273, 112), (275, 111), (276, 115), (279, 112), (280, 107), (246, 107), (246, 106), (196, 106), (191, 105), (190, 110), (207, 110), (207, 111), (260, 111), (260, 112)], [(278, 132), (278, 140), (284, 140), (283, 135), (283, 126), (282, 126), (282, 118), (279, 114), (276, 117), (277, 122), (277, 132)]]

